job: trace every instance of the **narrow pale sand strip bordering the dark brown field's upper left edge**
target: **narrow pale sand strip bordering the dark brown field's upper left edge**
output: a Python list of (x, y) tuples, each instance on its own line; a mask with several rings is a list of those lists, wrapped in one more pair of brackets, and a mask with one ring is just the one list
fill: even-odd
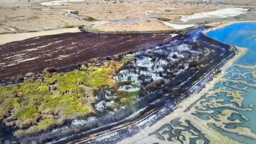
[(57, 30), (46, 30), (46, 31), (37, 31), (34, 33), (19, 33), (19, 34), (3, 34), (0, 35), (0, 44), (10, 43), (14, 41), (22, 41), (27, 38), (45, 36), (45, 35), (56, 35), (61, 33), (77, 33), (80, 30), (78, 28), (64, 28)]

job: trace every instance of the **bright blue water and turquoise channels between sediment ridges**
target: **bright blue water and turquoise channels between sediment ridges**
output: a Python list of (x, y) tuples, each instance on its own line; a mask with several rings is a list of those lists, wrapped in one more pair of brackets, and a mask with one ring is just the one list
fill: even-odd
[[(236, 46), (240, 46), (240, 47), (247, 47), (250, 49), (250, 51), (244, 55), (244, 57), (242, 57), (241, 59), (239, 59), (236, 64), (239, 65), (245, 65), (245, 66), (253, 66), (256, 63), (256, 22), (251, 22), (251, 23), (235, 23), (233, 25), (218, 29), (218, 30), (214, 30), (214, 31), (210, 31), (209, 33), (206, 33), (207, 36), (212, 37), (214, 39), (217, 39), (218, 41), (221, 42), (225, 42), (228, 44), (232, 44), (232, 45), (236, 45)], [(235, 70), (239, 70), (241, 71), (241, 73), (244, 73), (246, 71), (253, 71), (253, 70), (249, 70), (249, 69), (243, 69), (243, 68), (238, 68), (238, 67), (231, 67), (229, 70), (231, 69), (235, 69)], [(233, 72), (233, 73), (239, 73), (239, 72)], [(245, 79), (241, 79), (241, 81), (246, 81), (246, 82), (250, 82), (251, 84), (255, 84), (256, 83), (256, 79), (254, 79), (250, 74), (246, 75), (247, 78)], [(225, 78), (230, 78), (230, 79), (234, 79), (236, 77), (239, 76), (231, 76), (230, 73), (228, 73)], [(253, 82), (255, 81), (255, 82)], [(232, 84), (230, 83), (230, 85), (237, 85), (239, 87), (249, 87), (249, 90), (251, 92), (246, 92), (243, 90), (238, 90), (241, 91), (243, 93), (245, 93), (244, 96), (244, 101), (242, 102), (242, 107), (241, 108), (249, 108), (250, 104), (253, 104), (254, 106), (256, 106), (256, 89), (244, 84)], [(231, 90), (236, 90), (233, 87), (228, 87), (225, 86), (223, 84), (217, 84), (215, 85), (215, 89), (218, 89), (218, 87), (227, 87)], [(213, 97), (210, 98), (205, 98), (204, 99), (211, 99)], [(225, 96), (225, 93), (221, 93), (218, 96), (218, 99), (225, 99), (224, 102), (222, 103), (232, 103), (234, 104), (234, 106), (239, 107), (236, 103), (234, 102), (229, 102), (229, 100), (231, 98), (227, 98)], [(216, 113), (219, 113), (220, 110), (222, 110), (223, 108), (207, 108), (207, 110), (214, 110), (215, 113), (213, 115), (215, 115)], [(231, 108), (229, 108), (231, 109)], [(243, 121), (242, 124), (228, 124), (227, 128), (229, 129), (234, 129), (236, 126), (243, 126), (243, 127), (250, 127), (252, 132), (256, 132), (256, 110), (255, 108), (252, 108), (251, 111), (243, 111), (243, 110), (236, 110), (238, 111), (240, 114), (246, 116), (249, 121), (245, 121), (244, 118), (239, 117), (239, 115), (232, 115), (232, 117), (230, 118), (231, 120), (234, 119), (239, 119), (240, 121)], [(200, 115), (196, 115), (198, 117), (200, 117)], [(212, 116), (212, 115), (208, 115), (208, 116)], [(202, 115), (202, 119), (205, 119), (207, 116)], [(230, 132), (223, 132), (223, 130), (218, 130), (220, 131), (223, 135), (227, 135), (228, 137), (237, 140), (239, 142), (245, 142), (245, 143), (256, 143), (256, 140), (252, 140), (251, 138), (246, 138), (246, 137), (238, 137), (237, 134), (235, 133), (230, 133)]]

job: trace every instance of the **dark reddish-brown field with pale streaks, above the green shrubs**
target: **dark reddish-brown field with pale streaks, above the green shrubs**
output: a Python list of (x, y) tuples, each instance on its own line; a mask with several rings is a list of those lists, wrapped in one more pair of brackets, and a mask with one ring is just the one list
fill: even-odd
[(137, 51), (163, 44), (169, 38), (170, 34), (92, 34), (83, 31), (11, 42), (0, 45), (0, 79)]

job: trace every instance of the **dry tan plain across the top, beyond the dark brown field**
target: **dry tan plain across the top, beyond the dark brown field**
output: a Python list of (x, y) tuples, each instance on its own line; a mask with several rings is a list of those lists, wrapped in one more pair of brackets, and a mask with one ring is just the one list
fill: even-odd
[[(1, 1), (0, 33), (19, 33), (77, 26), (103, 31), (171, 30), (172, 27), (164, 25), (159, 20), (146, 19), (162, 18), (163, 20), (164, 18), (166, 21), (181, 22), (182, 15), (210, 12), (227, 7), (241, 7), (234, 5), (234, 3), (215, 5), (201, 1), (192, 2), (190, 4), (185, 1), (182, 3), (179, 1), (70, 1), (68, 4), (57, 5), (53, 2), (42, 5), (38, 1)], [(250, 6), (252, 7), (253, 3), (250, 3)], [(70, 11), (93, 19), (84, 20), (84, 18), (69, 17)], [(144, 20), (134, 21), (134, 19), (141, 18)], [(120, 20), (130, 20), (130, 22), (106, 23)]]

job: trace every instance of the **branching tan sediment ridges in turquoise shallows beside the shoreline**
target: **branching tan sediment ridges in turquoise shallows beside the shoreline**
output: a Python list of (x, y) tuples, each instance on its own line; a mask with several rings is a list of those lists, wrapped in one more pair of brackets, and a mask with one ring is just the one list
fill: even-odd
[[(180, 143), (253, 142), (256, 140), (256, 134), (250, 127), (243, 126), (243, 123), (250, 121), (243, 113), (245, 111), (253, 113), (251, 110), (254, 106), (243, 105), (243, 100), (246, 99), (246, 93), (256, 88), (255, 70), (252, 66), (232, 67), (227, 72), (227, 76), (221, 78), (213, 90), (196, 101), (170, 124), (163, 125), (149, 135), (155, 135), (162, 141)], [(173, 123), (178, 124), (179, 127), (173, 126)], [(234, 139), (231, 140), (221, 135), (223, 131), (228, 132), (228, 134), (224, 133), (227, 136), (230, 136), (229, 133), (234, 133), (242, 137), (231, 136)], [(246, 141), (243, 141), (244, 139)]]

